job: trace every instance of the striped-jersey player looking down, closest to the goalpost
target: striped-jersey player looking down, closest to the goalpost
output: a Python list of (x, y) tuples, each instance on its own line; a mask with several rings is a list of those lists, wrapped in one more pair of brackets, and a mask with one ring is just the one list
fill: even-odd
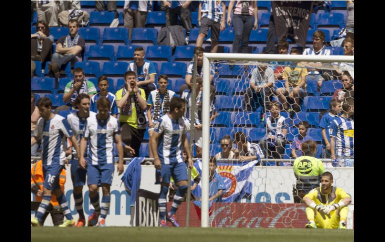
[(156, 122), (154, 132), (150, 138), (155, 169), (160, 170), (162, 178), (158, 199), (160, 211), (159, 224), (161, 227), (167, 227), (164, 216), (166, 213), (166, 196), (170, 176), (173, 177), (179, 189), (174, 195), (172, 207), (166, 216), (166, 220), (170, 221), (174, 227), (179, 227), (174, 214), (187, 190), (187, 170), (181, 155), (182, 146), (187, 154), (188, 167), (192, 168), (193, 165), (186, 139), (186, 127), (182, 119), (184, 111), (184, 100), (179, 97), (173, 97), (170, 102), (170, 112), (163, 115)]

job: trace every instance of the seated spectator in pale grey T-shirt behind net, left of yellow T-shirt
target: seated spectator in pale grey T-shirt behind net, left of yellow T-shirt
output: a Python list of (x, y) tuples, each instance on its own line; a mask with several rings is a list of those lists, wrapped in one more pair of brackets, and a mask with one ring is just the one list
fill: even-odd
[(258, 65), (251, 71), (250, 86), (244, 94), (247, 111), (255, 111), (258, 107), (265, 113), (265, 105), (271, 101), (274, 87), (274, 71), (266, 65)]

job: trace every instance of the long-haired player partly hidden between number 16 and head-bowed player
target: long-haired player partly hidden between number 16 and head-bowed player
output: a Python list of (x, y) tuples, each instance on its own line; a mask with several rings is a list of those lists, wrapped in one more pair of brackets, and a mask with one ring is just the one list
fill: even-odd
[[(94, 96), (93, 96), (94, 97)], [(89, 96), (85, 93), (80, 93), (73, 106), (78, 110), (74, 113), (70, 113), (67, 116), (67, 121), (71, 127), (73, 135), (76, 137), (77, 143), (80, 143), (81, 137), (83, 137), (83, 128), (85, 120), (89, 115), (96, 115), (94, 112), (89, 111)], [(84, 156), (87, 157), (88, 152), (85, 151)], [(79, 215), (75, 227), (84, 227), (85, 217), (83, 212), (83, 186), (85, 185), (85, 170), (79, 167), (79, 158), (75, 149), (72, 146), (71, 149), (71, 179), (73, 184), (73, 199), (75, 201), (75, 208)]]

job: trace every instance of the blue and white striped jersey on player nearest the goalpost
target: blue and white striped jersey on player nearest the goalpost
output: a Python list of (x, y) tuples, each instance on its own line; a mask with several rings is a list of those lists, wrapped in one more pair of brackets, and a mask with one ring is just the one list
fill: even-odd
[(183, 162), (182, 135), (186, 133), (183, 119), (173, 120), (165, 114), (155, 123), (154, 131), (160, 134), (157, 153), (161, 164)]

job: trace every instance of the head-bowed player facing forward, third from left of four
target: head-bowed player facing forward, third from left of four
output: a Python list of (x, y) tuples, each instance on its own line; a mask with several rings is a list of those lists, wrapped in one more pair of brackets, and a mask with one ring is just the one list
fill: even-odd
[[(120, 127), (117, 119), (109, 115), (111, 103), (108, 98), (100, 97), (96, 102), (98, 113), (90, 115), (84, 125), (84, 136), (80, 140), (79, 166), (87, 169), (87, 185), (89, 200), (94, 207), (94, 216), (90, 221), (95, 225), (98, 220), (99, 227), (105, 227), (105, 218), (108, 213), (110, 186), (113, 177), (113, 152), (112, 142), (115, 140), (119, 156), (117, 163), (118, 175), (123, 173), (123, 146), (121, 143)], [(84, 159), (85, 148), (89, 140), (87, 162)], [(98, 189), (101, 186), (103, 197), (99, 205)]]

